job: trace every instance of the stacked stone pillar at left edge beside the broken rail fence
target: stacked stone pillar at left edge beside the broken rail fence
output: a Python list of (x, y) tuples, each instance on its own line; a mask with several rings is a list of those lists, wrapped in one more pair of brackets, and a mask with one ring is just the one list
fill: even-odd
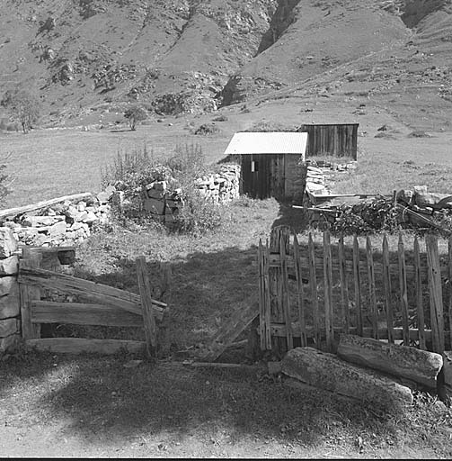
[(13, 350), (21, 339), (21, 303), (17, 273), (18, 242), (13, 231), (0, 228), (0, 356)]

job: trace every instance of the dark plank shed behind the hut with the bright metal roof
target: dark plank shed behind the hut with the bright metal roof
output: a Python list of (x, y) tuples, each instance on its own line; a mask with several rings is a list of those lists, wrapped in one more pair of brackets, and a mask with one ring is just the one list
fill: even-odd
[(301, 125), (297, 131), (307, 133), (306, 157), (358, 156), (358, 126), (359, 123), (325, 123)]

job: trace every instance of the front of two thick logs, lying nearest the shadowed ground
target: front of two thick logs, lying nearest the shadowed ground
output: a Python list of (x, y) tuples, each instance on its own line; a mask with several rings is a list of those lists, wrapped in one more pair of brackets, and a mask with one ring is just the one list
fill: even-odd
[(295, 348), (282, 359), (282, 373), (326, 391), (352, 397), (386, 412), (412, 404), (408, 387), (315, 348)]

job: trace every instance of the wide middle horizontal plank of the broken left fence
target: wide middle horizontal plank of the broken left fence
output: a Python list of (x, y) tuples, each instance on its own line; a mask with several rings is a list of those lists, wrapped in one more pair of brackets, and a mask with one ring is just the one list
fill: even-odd
[(31, 301), (33, 323), (71, 323), (107, 327), (142, 327), (143, 317), (114, 306)]

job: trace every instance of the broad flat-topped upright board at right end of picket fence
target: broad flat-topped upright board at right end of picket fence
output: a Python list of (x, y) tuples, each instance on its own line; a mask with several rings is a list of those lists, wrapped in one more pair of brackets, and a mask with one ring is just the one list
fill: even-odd
[(433, 332), (433, 352), (444, 352), (444, 318), (441, 275), (439, 272), (438, 240), (433, 235), (425, 238), (429, 268), (430, 321)]

